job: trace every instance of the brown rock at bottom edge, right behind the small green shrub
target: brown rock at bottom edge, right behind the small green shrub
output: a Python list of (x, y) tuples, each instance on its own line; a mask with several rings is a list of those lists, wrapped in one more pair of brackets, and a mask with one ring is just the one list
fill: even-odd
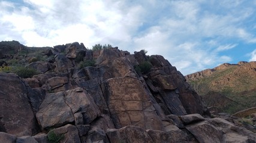
[[(79, 138), (79, 132), (76, 128), (76, 126), (73, 125), (65, 125), (62, 126), (61, 128), (53, 129), (52, 132), (54, 132), (56, 135), (59, 136), (64, 136), (64, 138), (59, 141), (59, 143), (64, 143), (64, 142), (70, 142), (70, 143), (79, 143), (80, 138)], [(49, 133), (47, 134), (49, 135)]]

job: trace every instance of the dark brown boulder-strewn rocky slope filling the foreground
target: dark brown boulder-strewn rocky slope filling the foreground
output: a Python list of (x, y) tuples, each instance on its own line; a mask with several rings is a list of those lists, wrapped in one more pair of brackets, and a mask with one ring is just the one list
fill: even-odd
[(1, 142), (256, 142), (234, 117), (210, 119), (161, 55), (77, 42), (0, 49)]

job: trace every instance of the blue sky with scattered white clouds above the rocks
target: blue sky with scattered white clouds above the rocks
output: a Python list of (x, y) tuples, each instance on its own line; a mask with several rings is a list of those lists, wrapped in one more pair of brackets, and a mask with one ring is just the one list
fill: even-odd
[(0, 41), (162, 55), (183, 75), (256, 61), (256, 0), (0, 0)]

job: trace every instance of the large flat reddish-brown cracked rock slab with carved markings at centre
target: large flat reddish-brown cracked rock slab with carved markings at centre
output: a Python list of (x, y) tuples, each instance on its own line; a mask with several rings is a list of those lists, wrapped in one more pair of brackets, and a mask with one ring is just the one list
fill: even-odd
[(107, 80), (106, 85), (106, 101), (116, 128), (134, 125), (161, 130), (161, 120), (140, 80), (117, 77)]

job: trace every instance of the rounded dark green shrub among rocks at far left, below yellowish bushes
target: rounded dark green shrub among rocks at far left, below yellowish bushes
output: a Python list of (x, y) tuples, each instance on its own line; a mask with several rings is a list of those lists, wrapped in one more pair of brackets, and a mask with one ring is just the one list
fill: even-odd
[(22, 78), (28, 78), (37, 74), (37, 70), (29, 67), (17, 67), (15, 73)]

